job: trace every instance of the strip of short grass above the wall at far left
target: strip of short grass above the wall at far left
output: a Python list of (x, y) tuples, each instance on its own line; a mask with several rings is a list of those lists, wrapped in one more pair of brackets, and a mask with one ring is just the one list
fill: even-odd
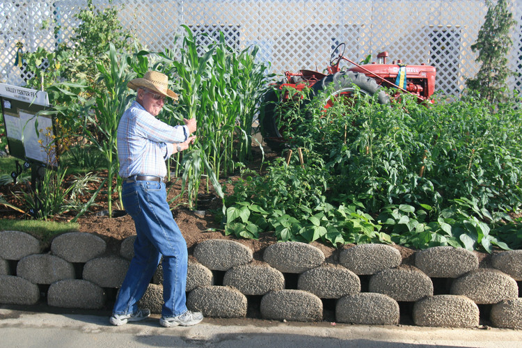
[(59, 223), (55, 221), (0, 219), (0, 230), (29, 233), (42, 242), (49, 242), (52, 237), (65, 232), (79, 230), (78, 223)]

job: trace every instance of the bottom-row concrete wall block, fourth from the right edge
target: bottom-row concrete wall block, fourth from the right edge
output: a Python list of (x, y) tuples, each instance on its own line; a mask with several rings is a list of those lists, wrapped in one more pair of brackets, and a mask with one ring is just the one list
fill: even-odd
[(261, 299), (264, 319), (316, 322), (322, 320), (323, 303), (319, 297), (303, 290), (278, 290)]

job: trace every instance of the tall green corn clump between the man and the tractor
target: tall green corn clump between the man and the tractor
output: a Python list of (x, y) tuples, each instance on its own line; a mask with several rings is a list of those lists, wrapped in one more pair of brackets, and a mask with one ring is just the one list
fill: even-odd
[[(178, 123), (182, 118), (196, 118), (198, 122), (194, 152), (178, 155), (175, 170), (177, 174), (181, 167), (185, 168), (189, 206), (194, 207), (202, 178), (207, 178), (208, 189), (214, 175), (219, 181), (220, 175), (235, 170), (237, 162), (248, 159), (253, 117), (267, 67), (255, 61), (257, 49), (235, 52), (226, 45), (222, 33), (219, 42), (198, 55), (203, 49), (190, 29), (184, 28), (187, 33), (180, 59), (175, 60), (174, 52), (167, 51), (159, 54), (161, 61), (156, 66), (168, 76), (175, 76), (173, 89), (180, 96), (178, 104), (166, 109), (172, 111)], [(192, 167), (189, 159), (195, 161)]]

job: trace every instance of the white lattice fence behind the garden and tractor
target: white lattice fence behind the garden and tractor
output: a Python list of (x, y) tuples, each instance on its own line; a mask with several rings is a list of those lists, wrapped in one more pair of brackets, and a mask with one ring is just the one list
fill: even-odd
[[(108, 6), (107, 0), (94, 0)], [(16, 44), (24, 52), (68, 45), (77, 22), (74, 13), (86, 0), (2, 0), (0, 3), (0, 81), (23, 84), (14, 67)], [(222, 31), (237, 49), (260, 47), (271, 71), (323, 70), (331, 50), (346, 42), (346, 56), (362, 61), (388, 51), (391, 60), (427, 63), (437, 68), (438, 90), (459, 93), (478, 70), (470, 46), (484, 22), (483, 0), (115, 0), (122, 24), (151, 51), (179, 48), (187, 24), (198, 42), (209, 45)], [(516, 75), (510, 86), (522, 88), (522, 1), (512, 0), (518, 21), (509, 56)], [(62, 26), (54, 33), (54, 21)], [(47, 25), (46, 29), (42, 26)]]

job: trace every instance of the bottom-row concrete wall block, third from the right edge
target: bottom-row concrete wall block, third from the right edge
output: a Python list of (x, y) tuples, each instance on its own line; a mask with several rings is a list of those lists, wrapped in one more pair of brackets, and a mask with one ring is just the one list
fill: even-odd
[(341, 323), (365, 325), (399, 324), (399, 303), (374, 292), (341, 297), (335, 305), (335, 319)]

